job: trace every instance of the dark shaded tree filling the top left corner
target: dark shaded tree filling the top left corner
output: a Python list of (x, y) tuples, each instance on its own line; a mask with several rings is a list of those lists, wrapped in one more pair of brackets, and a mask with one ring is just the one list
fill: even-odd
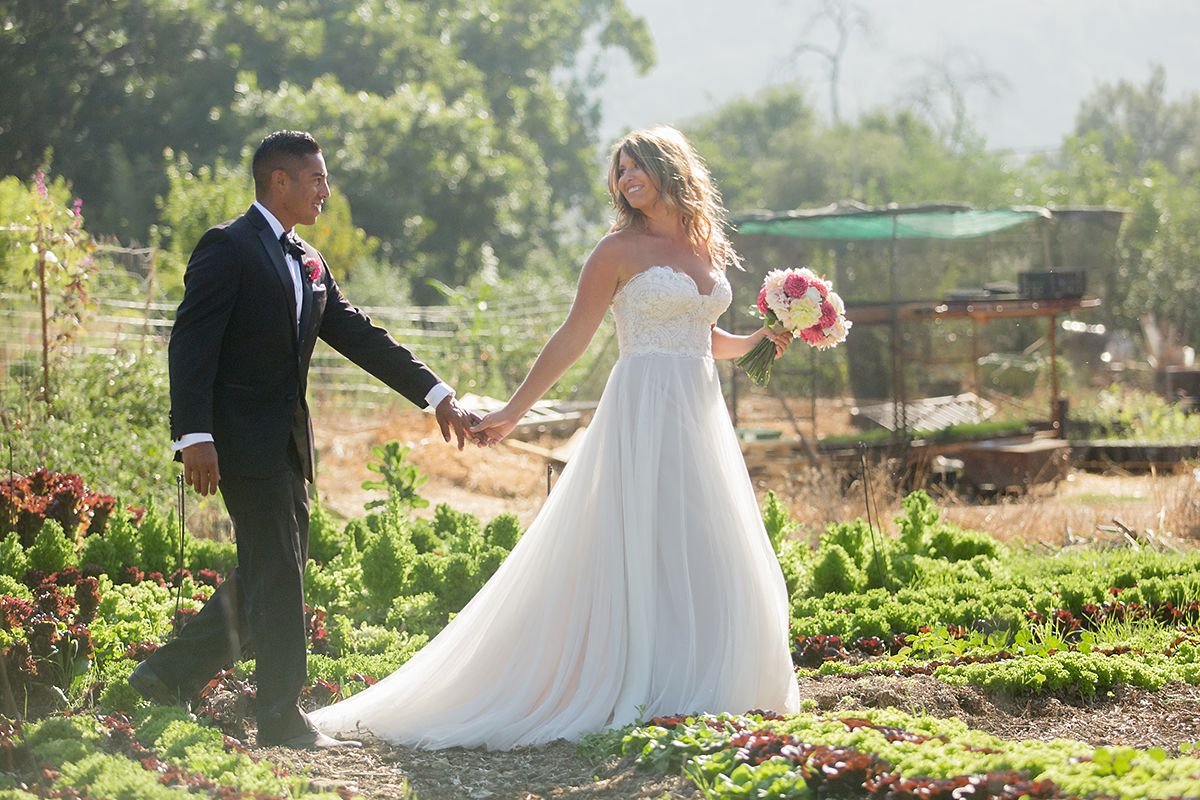
[(210, 157), (234, 72), (202, 0), (0, 0), (0, 173), (47, 151), (95, 207), (97, 231), (144, 237), (162, 151)]

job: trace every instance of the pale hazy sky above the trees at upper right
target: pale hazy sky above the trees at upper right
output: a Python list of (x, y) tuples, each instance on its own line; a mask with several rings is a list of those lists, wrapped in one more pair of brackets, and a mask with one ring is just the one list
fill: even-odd
[[(650, 26), (656, 66), (638, 77), (623, 54), (605, 62), (604, 139), (691, 118), (780, 83), (804, 84), (828, 118), (826, 61), (797, 44), (833, 46), (821, 0), (625, 0)], [(970, 115), (997, 150), (1056, 148), (1097, 86), (1142, 85), (1166, 71), (1170, 98), (1200, 91), (1200, 0), (858, 0), (868, 31), (842, 58), (841, 118), (894, 107), (950, 67)], [(967, 73), (986, 74), (992, 94)]]

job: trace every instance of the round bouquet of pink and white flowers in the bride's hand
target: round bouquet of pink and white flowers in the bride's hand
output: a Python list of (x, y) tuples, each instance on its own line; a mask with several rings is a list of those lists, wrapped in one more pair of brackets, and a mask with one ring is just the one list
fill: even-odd
[[(833, 285), (806, 266), (768, 272), (758, 291), (758, 313), (768, 327), (784, 327), (818, 350), (845, 342), (851, 326)], [(766, 386), (774, 361), (775, 343), (764, 338), (738, 359), (738, 366)]]

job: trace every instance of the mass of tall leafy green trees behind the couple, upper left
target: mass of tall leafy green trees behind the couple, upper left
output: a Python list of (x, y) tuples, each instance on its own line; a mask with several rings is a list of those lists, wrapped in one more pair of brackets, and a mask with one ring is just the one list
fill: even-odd
[(478, 225), (505, 258), (594, 207), (593, 42), (653, 59), (625, 0), (0, 0), (0, 173), (53, 150), (98, 230), (143, 239), (168, 150), (238, 163), (310, 126), (383, 254), (452, 282)]

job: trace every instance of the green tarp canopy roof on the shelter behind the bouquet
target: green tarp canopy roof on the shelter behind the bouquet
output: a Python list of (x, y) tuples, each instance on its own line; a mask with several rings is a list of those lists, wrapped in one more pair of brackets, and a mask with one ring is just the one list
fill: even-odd
[(738, 234), (868, 241), (888, 239), (973, 239), (1022, 222), (1050, 218), (1049, 209), (972, 209), (960, 205), (871, 209), (857, 204), (798, 211), (751, 211), (731, 222)]

